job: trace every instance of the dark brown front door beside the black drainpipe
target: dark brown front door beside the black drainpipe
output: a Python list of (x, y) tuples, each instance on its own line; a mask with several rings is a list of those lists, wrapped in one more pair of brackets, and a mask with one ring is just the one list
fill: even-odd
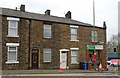
[(37, 49), (32, 50), (32, 68), (33, 69), (38, 68), (38, 50)]

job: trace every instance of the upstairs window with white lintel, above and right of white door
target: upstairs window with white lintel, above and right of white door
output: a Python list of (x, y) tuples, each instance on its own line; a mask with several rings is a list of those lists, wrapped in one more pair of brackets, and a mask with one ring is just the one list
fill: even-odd
[(70, 26), (71, 27), (71, 41), (78, 41), (77, 31), (78, 26)]

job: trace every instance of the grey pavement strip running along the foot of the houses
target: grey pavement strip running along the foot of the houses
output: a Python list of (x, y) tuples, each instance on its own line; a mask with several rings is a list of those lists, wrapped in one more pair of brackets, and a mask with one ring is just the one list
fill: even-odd
[(68, 69), (68, 70), (2, 70), (3, 75), (8, 74), (72, 74), (72, 73), (118, 73), (120, 71), (112, 70), (112, 71), (95, 71), (95, 70), (79, 70), (79, 69)]

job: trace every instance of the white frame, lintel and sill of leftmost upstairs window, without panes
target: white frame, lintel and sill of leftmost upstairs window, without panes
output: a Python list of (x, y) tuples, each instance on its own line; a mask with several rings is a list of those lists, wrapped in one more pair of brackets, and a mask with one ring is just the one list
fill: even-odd
[[(20, 21), (20, 19), (19, 18), (13, 18), (13, 17), (7, 17), (7, 20), (8, 20), (8, 35), (7, 35), (7, 37), (19, 37), (18, 36), (18, 21)], [(16, 27), (11, 27), (10, 26), (11, 21), (16, 22)], [(10, 29), (16, 29), (16, 34), (17, 35), (11, 35), (10, 34)]]

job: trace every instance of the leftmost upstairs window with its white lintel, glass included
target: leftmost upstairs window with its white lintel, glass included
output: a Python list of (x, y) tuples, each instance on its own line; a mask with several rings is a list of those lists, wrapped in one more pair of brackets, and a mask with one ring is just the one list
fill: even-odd
[(18, 37), (19, 18), (8, 17), (8, 37)]

